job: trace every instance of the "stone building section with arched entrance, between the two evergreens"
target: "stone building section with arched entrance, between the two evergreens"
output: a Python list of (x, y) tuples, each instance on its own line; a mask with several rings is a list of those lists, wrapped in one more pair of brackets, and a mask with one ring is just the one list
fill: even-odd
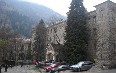
[(59, 50), (64, 43), (66, 21), (47, 27), (46, 60), (59, 61)]

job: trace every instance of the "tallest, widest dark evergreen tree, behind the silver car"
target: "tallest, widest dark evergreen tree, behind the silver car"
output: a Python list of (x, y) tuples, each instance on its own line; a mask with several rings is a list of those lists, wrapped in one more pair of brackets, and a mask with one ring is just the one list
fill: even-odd
[(68, 12), (63, 59), (69, 63), (86, 60), (88, 34), (83, 0), (72, 0)]

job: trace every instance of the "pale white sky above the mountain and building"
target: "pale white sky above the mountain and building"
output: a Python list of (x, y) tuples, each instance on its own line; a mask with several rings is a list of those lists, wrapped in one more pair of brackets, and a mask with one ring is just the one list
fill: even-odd
[[(66, 16), (69, 11), (70, 3), (72, 0), (25, 0), (32, 3), (37, 3), (51, 8), (52, 10)], [(107, 0), (83, 0), (84, 6), (87, 11), (95, 10), (94, 6)], [(116, 3), (116, 0), (110, 0)]]

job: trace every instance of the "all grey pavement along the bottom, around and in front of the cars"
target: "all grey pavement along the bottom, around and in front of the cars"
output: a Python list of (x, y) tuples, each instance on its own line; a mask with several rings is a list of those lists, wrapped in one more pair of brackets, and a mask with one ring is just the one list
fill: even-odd
[[(15, 67), (12, 67), (12, 68), (8, 68), (7, 72), (4, 72), (4, 68), (2, 68), (1, 73), (40, 73), (38, 70), (34, 70), (33, 69), (34, 67), (35, 67), (34, 65), (24, 65), (23, 67), (15, 66)], [(49, 73), (49, 72), (45, 72), (43, 70), (42, 73)], [(72, 72), (71, 70), (66, 70), (66, 71), (62, 71), (62, 72), (59, 72), (59, 73), (116, 73), (116, 69), (101, 70), (101, 71), (94, 71), (94, 72), (89, 72), (89, 71)]]

